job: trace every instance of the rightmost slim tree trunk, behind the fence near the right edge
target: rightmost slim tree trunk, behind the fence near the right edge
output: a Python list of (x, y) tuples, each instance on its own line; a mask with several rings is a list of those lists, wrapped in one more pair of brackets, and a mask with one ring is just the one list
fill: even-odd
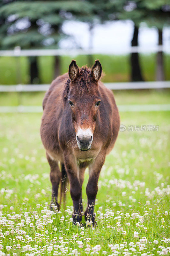
[[(159, 34), (159, 45), (162, 45), (162, 29), (158, 30)], [(156, 80), (157, 81), (164, 81), (165, 74), (164, 74), (164, 61), (163, 61), (163, 52), (157, 52), (156, 56)]]

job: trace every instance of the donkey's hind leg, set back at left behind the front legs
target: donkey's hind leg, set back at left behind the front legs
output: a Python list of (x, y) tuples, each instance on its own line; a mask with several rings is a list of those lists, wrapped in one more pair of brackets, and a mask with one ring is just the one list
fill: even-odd
[[(57, 196), (58, 196), (58, 187), (60, 184), (61, 180), (61, 172), (58, 166), (58, 162), (52, 160), (48, 154), (47, 155), (47, 160), (50, 165), (50, 180), (52, 184), (52, 197), (51, 197), (51, 204), (55, 204), (57, 206), (57, 209), (60, 209), (60, 205), (57, 202)], [(51, 205), (50, 205), (51, 206)], [(50, 207), (51, 210), (53, 210), (52, 207)]]

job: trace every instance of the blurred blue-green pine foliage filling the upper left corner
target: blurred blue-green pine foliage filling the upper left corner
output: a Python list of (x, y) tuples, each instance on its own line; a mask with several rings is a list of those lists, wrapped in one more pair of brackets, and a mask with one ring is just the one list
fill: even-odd
[[(2, 5), (2, 1), (1, 1)], [(65, 20), (91, 17), (86, 1), (15, 1), (0, 8), (0, 48), (57, 47)], [(20, 25), (18, 23), (20, 22)], [(25, 26), (25, 27), (24, 27)]]

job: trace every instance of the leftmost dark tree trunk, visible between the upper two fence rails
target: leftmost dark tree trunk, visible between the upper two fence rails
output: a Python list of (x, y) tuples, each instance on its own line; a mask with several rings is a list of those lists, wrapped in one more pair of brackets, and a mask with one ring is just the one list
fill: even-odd
[(31, 84), (39, 84), (39, 73), (38, 73), (38, 57), (37, 56), (29, 56), (29, 64), (30, 64), (30, 83)]

